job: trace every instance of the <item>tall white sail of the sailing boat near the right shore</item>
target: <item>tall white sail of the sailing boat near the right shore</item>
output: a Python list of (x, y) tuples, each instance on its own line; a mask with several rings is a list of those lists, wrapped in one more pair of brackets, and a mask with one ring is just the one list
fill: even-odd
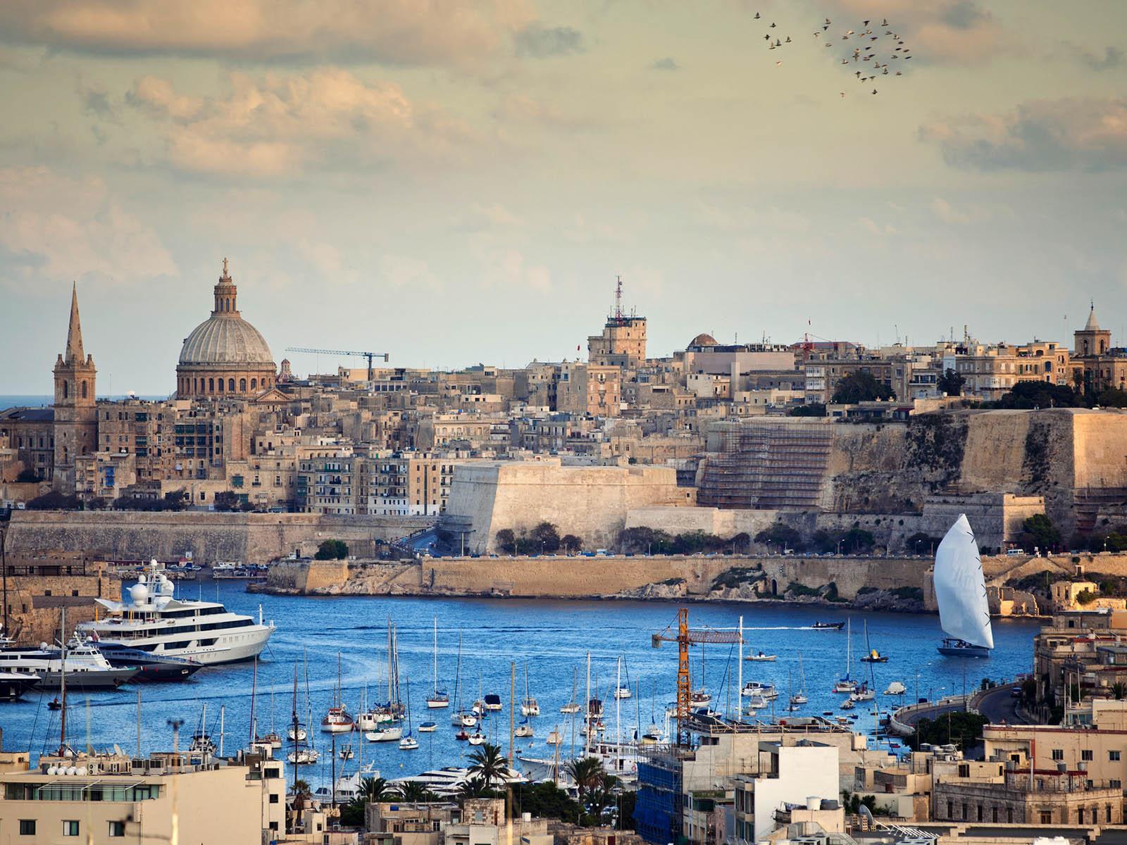
[(959, 516), (935, 550), (934, 581), (943, 630), (975, 646), (994, 648), (983, 562), (966, 515)]

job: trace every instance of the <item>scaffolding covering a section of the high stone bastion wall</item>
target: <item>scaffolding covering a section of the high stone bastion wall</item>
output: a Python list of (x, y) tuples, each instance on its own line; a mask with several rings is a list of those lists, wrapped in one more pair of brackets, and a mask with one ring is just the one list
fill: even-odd
[(720, 424), (719, 451), (704, 468), (703, 507), (805, 509), (818, 506), (833, 422), (756, 418)]

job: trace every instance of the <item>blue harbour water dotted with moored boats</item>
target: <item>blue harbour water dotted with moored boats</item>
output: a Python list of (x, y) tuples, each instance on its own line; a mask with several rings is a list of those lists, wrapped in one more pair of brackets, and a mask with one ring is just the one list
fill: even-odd
[[(454, 697), (458, 666), (458, 639), (461, 632), (462, 673), (459, 692), (467, 708), (483, 693), (497, 693), (505, 704), (503, 713), (488, 720), (485, 730), (507, 749), (511, 670), (516, 667), (517, 702), (524, 694), (527, 667), (529, 690), (539, 700), (542, 715), (533, 719), (535, 737), (517, 740), (518, 753), (548, 756), (544, 738), (553, 727), (567, 731), (570, 717), (559, 708), (571, 699), (573, 677), (578, 678), (577, 700), (583, 701), (586, 684), (586, 657), (591, 653), (592, 695), (606, 702), (609, 736), (613, 737), (616, 661), (623, 658), (623, 683), (629, 677), (639, 694), (621, 702), (623, 738), (633, 736), (651, 719), (662, 723), (665, 704), (675, 696), (676, 643), (655, 650), (651, 634), (666, 629), (675, 633), (677, 606), (672, 603), (644, 602), (562, 602), (523, 599), (429, 599), (405, 597), (289, 597), (247, 594), (240, 582), (185, 582), (187, 598), (223, 602), (230, 610), (257, 616), (263, 614), (277, 625), (269, 646), (258, 662), (255, 718), (258, 732), (273, 729), (284, 735), (293, 709), (293, 678), (298, 671), (298, 711), (302, 722), (311, 721), (312, 742), (321, 750), (322, 764), (303, 766), (302, 777), (328, 783), (330, 738), (317, 730), (337, 688), (337, 660), (340, 661), (340, 688), (349, 712), (360, 705), (366, 686), (369, 700), (387, 697), (387, 625), (396, 625), (399, 643), (399, 675), (406, 688), (409, 681), (411, 714), (416, 727), (426, 720), (438, 723), (434, 733), (421, 733), (419, 749), (401, 751), (396, 742), (366, 742), (364, 762), (373, 759), (384, 777), (417, 774), (440, 765), (467, 765), (471, 753), (454, 739), (451, 710), (428, 711), (425, 696), (434, 686), (433, 625), (438, 621), (438, 682)], [(780, 690), (777, 715), (786, 715), (788, 684), (799, 687), (799, 655), (806, 677), (809, 704), (798, 714), (819, 714), (825, 710), (841, 713), (844, 696), (829, 692), (833, 682), (845, 671), (846, 632), (810, 630), (818, 620), (851, 621), (852, 676), (868, 678), (870, 666), (857, 662), (866, 649), (863, 629), (870, 646), (888, 653), (887, 664), (871, 667), (881, 709), (891, 709), (920, 696), (938, 697), (977, 687), (983, 677), (1012, 678), (1029, 671), (1032, 661), (1033, 621), (996, 621), (995, 649), (985, 660), (946, 658), (935, 651), (941, 634), (937, 616), (923, 614), (882, 614), (836, 611), (790, 605), (700, 604), (690, 606), (693, 628), (735, 629), (744, 617), (745, 653), (762, 649), (777, 653), (774, 662), (743, 664), (743, 679), (774, 681)], [(735, 647), (706, 646), (693, 649), (693, 688), (704, 686), (713, 695), (712, 706), (735, 710), (739, 701)], [(966, 671), (964, 676), (964, 669)], [(307, 670), (309, 709), (307, 719)], [(207, 703), (207, 727), (218, 740), (220, 708), (224, 711), (224, 750), (245, 746), (251, 729), (250, 699), (254, 678), (251, 664), (210, 667), (192, 681), (177, 684), (126, 685), (116, 692), (76, 695), (68, 708), (68, 736), (81, 747), (87, 738), (95, 747), (118, 744), (136, 750), (137, 691), (141, 692), (141, 749), (143, 754), (171, 747), (168, 720), (185, 720), (190, 736), (202, 705)], [(597, 678), (597, 687), (596, 687)], [(730, 679), (730, 683), (729, 683)], [(889, 682), (907, 687), (904, 699), (879, 695)], [(383, 693), (378, 693), (383, 685)], [(57, 713), (46, 709), (50, 695), (32, 694), (26, 701), (0, 704), (0, 724), (7, 749), (29, 749), (33, 755), (59, 745)], [(745, 700), (746, 701), (746, 700)], [(862, 712), (863, 711), (863, 712)], [(770, 715), (771, 711), (761, 711)], [(858, 705), (859, 729), (872, 726), (872, 704)], [(516, 711), (520, 721), (520, 711)], [(349, 737), (356, 737), (349, 740)], [(357, 745), (357, 735), (337, 737), (339, 748), (348, 741)], [(566, 740), (570, 742), (570, 737)], [(358, 758), (347, 765), (355, 771)], [(339, 775), (341, 763), (337, 763)]]

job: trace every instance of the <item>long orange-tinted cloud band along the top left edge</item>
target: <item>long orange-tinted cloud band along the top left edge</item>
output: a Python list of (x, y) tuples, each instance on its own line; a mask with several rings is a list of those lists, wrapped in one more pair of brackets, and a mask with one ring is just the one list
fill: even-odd
[(7, 0), (0, 41), (125, 56), (470, 68), (533, 19), (526, 0)]

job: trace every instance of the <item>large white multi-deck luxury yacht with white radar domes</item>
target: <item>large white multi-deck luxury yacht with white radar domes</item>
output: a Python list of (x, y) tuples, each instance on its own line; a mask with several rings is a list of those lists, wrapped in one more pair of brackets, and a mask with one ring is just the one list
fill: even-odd
[(202, 664), (250, 660), (266, 647), (274, 622), (229, 612), (218, 602), (174, 597), (175, 586), (152, 561), (130, 588), (130, 602), (95, 599), (108, 615), (81, 622), (80, 633), (153, 655), (188, 657)]

